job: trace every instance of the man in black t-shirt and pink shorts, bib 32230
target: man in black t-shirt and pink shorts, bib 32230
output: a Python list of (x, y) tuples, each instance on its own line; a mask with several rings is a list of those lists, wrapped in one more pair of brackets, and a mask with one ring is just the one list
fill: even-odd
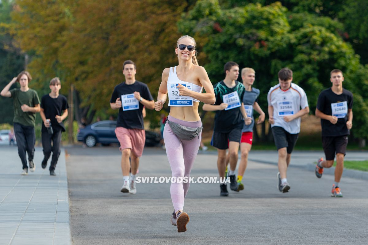
[[(123, 186), (121, 192), (135, 194), (135, 175), (145, 144), (143, 107), (154, 108), (153, 97), (145, 83), (135, 80), (137, 69), (131, 60), (124, 61), (125, 82), (118, 84), (110, 99), (112, 109), (119, 109), (115, 134), (120, 143)], [(129, 161), (130, 158), (130, 161)], [(131, 165), (131, 166), (130, 166)], [(129, 178), (129, 169), (131, 176)]]

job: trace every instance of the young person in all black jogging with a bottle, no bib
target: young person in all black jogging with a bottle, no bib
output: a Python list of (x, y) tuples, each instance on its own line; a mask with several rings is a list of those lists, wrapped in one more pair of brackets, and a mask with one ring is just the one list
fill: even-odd
[(51, 152), (50, 175), (55, 176), (55, 167), (60, 155), (61, 132), (65, 131), (63, 120), (68, 116), (67, 98), (59, 94), (61, 89), (58, 77), (50, 81), (51, 93), (42, 96), (40, 115), (43, 121), (41, 129), (43, 160), (42, 168), (47, 166)]

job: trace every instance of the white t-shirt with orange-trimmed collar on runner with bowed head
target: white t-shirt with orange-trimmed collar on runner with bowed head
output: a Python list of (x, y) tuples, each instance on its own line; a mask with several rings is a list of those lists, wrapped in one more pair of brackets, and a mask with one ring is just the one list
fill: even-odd
[(300, 132), (300, 118), (285, 122), (283, 117), (295, 115), (300, 109), (308, 107), (307, 95), (301, 87), (291, 83), (290, 89), (283, 91), (280, 84), (277, 84), (268, 92), (267, 101), (273, 107), (275, 123), (271, 127), (282, 127), (291, 134)]

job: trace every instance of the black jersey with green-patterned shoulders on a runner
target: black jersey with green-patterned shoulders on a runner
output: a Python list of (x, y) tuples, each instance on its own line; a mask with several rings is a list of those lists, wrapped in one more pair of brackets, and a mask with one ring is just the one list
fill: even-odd
[[(224, 81), (216, 83), (213, 86), (215, 91), (216, 102), (215, 105), (220, 105), (223, 103), (222, 97), (225, 94), (232, 93), (234, 91), (238, 92), (238, 96), (241, 98), (244, 96), (245, 87), (242, 83), (235, 81), (236, 85), (233, 88), (226, 86)], [(240, 107), (233, 108), (230, 110), (216, 111), (215, 115), (215, 127), (213, 131), (220, 133), (229, 133), (232, 129), (242, 129), (243, 128), (243, 115), (241, 114)]]

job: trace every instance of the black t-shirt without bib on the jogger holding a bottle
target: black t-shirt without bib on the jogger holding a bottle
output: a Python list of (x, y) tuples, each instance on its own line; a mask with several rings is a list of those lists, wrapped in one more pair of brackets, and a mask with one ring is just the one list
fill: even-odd
[[(46, 119), (51, 120), (51, 126), (54, 131), (65, 131), (63, 122), (58, 123), (55, 116), (61, 116), (63, 111), (68, 109), (67, 98), (63, 95), (59, 95), (57, 98), (51, 98), (49, 94), (42, 96), (40, 107), (44, 110)], [(42, 123), (42, 131), (46, 132), (47, 128)]]

